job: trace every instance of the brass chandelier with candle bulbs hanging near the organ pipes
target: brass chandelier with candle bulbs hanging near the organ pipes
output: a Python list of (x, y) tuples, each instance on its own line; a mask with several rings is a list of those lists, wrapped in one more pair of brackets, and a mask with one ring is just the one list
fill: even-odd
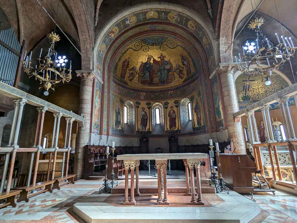
[(69, 69), (66, 68), (68, 60), (65, 60), (64, 66), (61, 66), (59, 63), (59, 60), (57, 59), (57, 52), (55, 51), (54, 45), (55, 42), (58, 42), (60, 40), (60, 36), (54, 32), (51, 32), (48, 34), (48, 38), (50, 40), (50, 48), (48, 49), (47, 55), (45, 55), (42, 58), (42, 49), (40, 51), (40, 55), (37, 58), (38, 60), (38, 66), (35, 65), (35, 68), (31, 66), (31, 57), (32, 57), (32, 51), (30, 52), (30, 57), (28, 59), (29, 55), (26, 55), (23, 58), (23, 68), (25, 73), (31, 77), (35, 77), (35, 80), (40, 81), (39, 89), (44, 88), (45, 92), (44, 95), (48, 95), (48, 90), (52, 89), (55, 90), (55, 85), (60, 83), (64, 84), (65, 82), (69, 82), (72, 78), (71, 76), (71, 60), (70, 60), (70, 66)]

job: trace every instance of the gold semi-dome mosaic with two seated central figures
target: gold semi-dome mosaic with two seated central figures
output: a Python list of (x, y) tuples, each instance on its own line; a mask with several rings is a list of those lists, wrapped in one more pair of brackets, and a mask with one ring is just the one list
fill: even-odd
[(138, 89), (174, 87), (199, 75), (197, 62), (188, 49), (163, 36), (133, 42), (115, 61), (114, 78)]

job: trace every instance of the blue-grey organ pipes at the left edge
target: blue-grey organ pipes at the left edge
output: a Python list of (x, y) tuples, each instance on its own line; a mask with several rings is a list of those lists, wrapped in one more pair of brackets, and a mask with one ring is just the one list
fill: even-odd
[(13, 86), (21, 56), (21, 45), (13, 28), (0, 31), (0, 81)]

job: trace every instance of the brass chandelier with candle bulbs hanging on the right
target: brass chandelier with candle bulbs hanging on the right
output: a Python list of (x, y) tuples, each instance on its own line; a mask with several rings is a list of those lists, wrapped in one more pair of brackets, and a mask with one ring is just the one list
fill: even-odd
[[(242, 46), (243, 55), (238, 54), (235, 56), (236, 65), (238, 70), (247, 75), (254, 76), (260, 74), (266, 81), (265, 85), (270, 85), (270, 76), (273, 75), (273, 71), (281, 68), (286, 61), (290, 61), (290, 57), (293, 57), (297, 47), (294, 46), (291, 37), (287, 38), (281, 36), (281, 41), (277, 33), (278, 44), (274, 46), (271, 41), (260, 30), (260, 26), (263, 25), (265, 20), (261, 17), (252, 20), (248, 27), (257, 33), (257, 39), (255, 43), (252, 43), (254, 47), (250, 47), (250, 43), (247, 41), (246, 46)], [(254, 49), (251, 49), (254, 48)]]

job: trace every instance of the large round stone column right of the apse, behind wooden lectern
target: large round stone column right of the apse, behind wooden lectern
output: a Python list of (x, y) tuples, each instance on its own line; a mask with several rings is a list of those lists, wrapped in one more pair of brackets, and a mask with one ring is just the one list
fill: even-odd
[(226, 121), (228, 128), (228, 138), (233, 140), (236, 147), (236, 153), (246, 154), (244, 135), (241, 126), (241, 119), (234, 118), (233, 113), (238, 112), (237, 93), (235, 89), (232, 67), (226, 66), (220, 68), (218, 73), (221, 78), (223, 100), (225, 104)]

